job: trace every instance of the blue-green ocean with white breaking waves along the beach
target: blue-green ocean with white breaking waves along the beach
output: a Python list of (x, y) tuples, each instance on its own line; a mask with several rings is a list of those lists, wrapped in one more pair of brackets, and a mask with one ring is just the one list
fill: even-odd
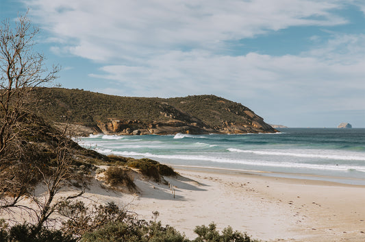
[(101, 154), (151, 158), (191, 169), (216, 168), (365, 185), (365, 129), (281, 128), (276, 134), (91, 135)]

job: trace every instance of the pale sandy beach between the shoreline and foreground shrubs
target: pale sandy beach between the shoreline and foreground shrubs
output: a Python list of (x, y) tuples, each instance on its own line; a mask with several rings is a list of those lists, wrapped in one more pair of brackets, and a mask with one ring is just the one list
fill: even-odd
[(271, 178), (221, 170), (177, 169), (175, 186), (135, 180), (138, 196), (114, 192), (92, 197), (127, 204), (150, 220), (158, 210), (164, 224), (190, 239), (195, 226), (214, 221), (263, 241), (365, 241), (365, 186)]

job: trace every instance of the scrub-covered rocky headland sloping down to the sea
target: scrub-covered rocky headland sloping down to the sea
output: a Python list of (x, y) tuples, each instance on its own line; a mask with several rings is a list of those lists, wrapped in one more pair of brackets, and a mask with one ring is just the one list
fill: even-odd
[(249, 108), (214, 95), (120, 97), (66, 88), (37, 88), (34, 95), (36, 114), (71, 123), (78, 135), (277, 132)]

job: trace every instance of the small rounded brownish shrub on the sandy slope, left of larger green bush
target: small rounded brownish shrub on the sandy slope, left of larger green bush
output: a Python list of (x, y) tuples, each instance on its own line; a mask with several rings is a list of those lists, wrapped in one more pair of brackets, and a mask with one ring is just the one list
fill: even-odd
[(105, 182), (112, 186), (125, 185), (129, 191), (136, 189), (136, 184), (129, 177), (127, 170), (121, 167), (109, 167), (105, 171)]

